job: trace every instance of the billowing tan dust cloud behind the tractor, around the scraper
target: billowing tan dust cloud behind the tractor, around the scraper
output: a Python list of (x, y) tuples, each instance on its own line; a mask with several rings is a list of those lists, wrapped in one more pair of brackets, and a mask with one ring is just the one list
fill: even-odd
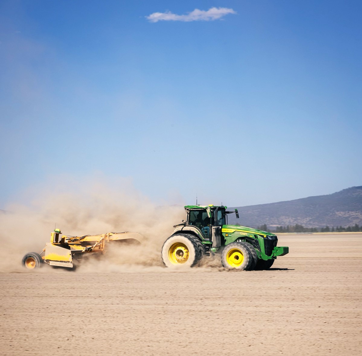
[[(47, 187), (36, 187), (30, 203), (13, 203), (0, 213), (0, 271), (29, 272), (21, 266), (25, 253), (40, 253), (56, 228), (62, 234), (83, 236), (107, 232), (139, 232), (140, 245), (124, 246), (119, 241), (106, 245), (106, 254), (89, 254), (77, 272), (167, 270), (160, 250), (173, 231), (172, 225), (185, 217), (180, 205), (156, 206), (123, 179), (110, 184), (104, 179), (66, 179)], [(29, 197), (28, 197), (29, 198)], [(45, 268), (37, 272), (64, 272)]]

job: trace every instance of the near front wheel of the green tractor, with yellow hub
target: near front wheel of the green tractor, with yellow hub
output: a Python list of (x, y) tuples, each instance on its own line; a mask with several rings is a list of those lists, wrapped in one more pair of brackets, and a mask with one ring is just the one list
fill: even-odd
[(249, 270), (253, 257), (248, 246), (243, 242), (232, 242), (226, 245), (221, 253), (221, 263), (227, 268)]

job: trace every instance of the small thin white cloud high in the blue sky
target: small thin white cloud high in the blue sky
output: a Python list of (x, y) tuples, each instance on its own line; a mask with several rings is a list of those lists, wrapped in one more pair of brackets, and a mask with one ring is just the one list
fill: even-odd
[(222, 18), (228, 14), (236, 14), (236, 11), (229, 8), (210, 8), (209, 10), (195, 9), (186, 15), (177, 15), (172, 12), (154, 12), (153, 14), (146, 16), (150, 22), (157, 21), (214, 21)]

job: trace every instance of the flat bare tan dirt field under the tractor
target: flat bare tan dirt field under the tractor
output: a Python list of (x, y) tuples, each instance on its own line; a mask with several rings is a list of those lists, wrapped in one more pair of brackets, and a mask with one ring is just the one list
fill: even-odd
[(0, 353), (360, 355), (361, 242), (280, 235), (290, 253), (270, 271), (4, 272)]

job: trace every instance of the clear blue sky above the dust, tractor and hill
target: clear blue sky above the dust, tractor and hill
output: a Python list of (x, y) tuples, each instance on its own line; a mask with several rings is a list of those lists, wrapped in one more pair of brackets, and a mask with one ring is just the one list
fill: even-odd
[(362, 185), (361, 12), (361, 1), (1, 1), (0, 208), (62, 177), (229, 206)]

